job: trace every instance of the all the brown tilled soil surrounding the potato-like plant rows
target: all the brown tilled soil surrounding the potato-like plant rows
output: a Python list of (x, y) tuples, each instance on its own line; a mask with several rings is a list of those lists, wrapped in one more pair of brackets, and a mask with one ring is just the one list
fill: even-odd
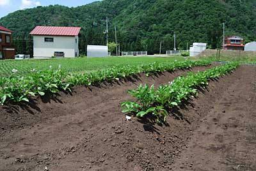
[(127, 90), (168, 84), (186, 71), (2, 107), (0, 170), (256, 170), (256, 67), (212, 81), (173, 111), (184, 120), (125, 120), (120, 102), (132, 100)]

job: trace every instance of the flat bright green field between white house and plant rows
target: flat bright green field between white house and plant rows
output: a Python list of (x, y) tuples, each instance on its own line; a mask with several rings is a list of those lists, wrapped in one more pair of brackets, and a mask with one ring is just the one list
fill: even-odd
[(18, 70), (17, 75), (30, 73), (31, 70), (58, 69), (59, 66), (68, 72), (84, 72), (103, 70), (117, 65), (139, 65), (145, 63), (168, 63), (172, 61), (184, 61), (184, 57), (106, 57), (106, 58), (75, 58), (75, 59), (29, 59), (0, 61), (0, 77), (6, 77), (13, 69)]

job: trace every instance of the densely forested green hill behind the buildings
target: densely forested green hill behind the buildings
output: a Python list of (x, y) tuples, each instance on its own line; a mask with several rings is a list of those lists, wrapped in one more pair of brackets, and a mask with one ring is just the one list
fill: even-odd
[[(118, 28), (121, 50), (172, 50), (173, 33), (177, 47), (186, 48), (194, 41), (220, 47), (222, 26), (226, 34), (238, 34), (246, 41), (256, 39), (256, 0), (104, 0), (68, 8), (38, 6), (19, 10), (0, 19), (0, 25), (15, 31), (15, 38), (29, 38), (35, 26), (80, 26), (80, 49), (87, 44), (106, 44), (105, 19), (109, 17), (109, 41)], [(16, 42), (20, 52), (31, 51), (31, 42)]]

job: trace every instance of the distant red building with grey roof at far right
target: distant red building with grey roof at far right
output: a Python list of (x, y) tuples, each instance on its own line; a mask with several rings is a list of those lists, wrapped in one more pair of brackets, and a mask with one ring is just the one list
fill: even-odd
[(226, 37), (223, 50), (244, 50), (244, 39), (240, 36)]

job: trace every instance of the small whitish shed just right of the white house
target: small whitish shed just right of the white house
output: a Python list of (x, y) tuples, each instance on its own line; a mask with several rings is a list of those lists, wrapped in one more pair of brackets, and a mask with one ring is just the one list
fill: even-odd
[(88, 45), (87, 57), (108, 57), (108, 46)]

